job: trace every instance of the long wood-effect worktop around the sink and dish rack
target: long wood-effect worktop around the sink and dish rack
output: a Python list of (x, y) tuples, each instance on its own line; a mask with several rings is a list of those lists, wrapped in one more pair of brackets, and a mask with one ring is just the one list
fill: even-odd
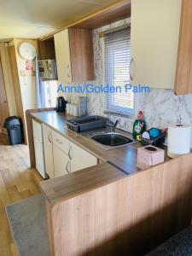
[[(85, 137), (82, 137), (79, 133), (69, 130), (65, 120), (73, 119), (73, 116), (68, 115), (67, 113), (45, 111), (32, 113), (32, 117), (37, 119), (39, 122), (43, 122), (44, 124), (49, 125), (52, 129), (58, 131), (61, 135), (67, 137), (67, 139), (73, 143), (76, 143), (81, 148), (84, 148), (90, 152), (90, 154), (95, 155), (99, 160), (109, 162), (126, 174), (141, 171), (141, 169), (137, 167), (137, 148), (141, 147), (141, 143), (105, 150), (96, 145), (96, 143), (91, 142)], [(166, 160), (169, 160), (169, 158), (166, 157)]]

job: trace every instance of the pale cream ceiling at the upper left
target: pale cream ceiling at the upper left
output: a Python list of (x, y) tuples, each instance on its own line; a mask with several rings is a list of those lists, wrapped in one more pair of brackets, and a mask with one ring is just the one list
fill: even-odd
[(41, 38), (117, 0), (0, 0), (0, 41)]

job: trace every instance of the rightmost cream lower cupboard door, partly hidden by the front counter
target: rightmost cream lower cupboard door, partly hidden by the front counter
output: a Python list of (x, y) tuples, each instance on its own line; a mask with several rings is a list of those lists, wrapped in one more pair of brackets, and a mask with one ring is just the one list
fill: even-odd
[(81, 169), (97, 165), (97, 159), (95, 156), (74, 143), (70, 143), (69, 156), (71, 159), (71, 172), (76, 172)]

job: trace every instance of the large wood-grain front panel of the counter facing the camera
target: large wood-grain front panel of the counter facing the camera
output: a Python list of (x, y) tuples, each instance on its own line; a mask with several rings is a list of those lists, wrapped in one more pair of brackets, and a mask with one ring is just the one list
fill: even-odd
[(191, 154), (47, 205), (52, 255), (143, 255), (191, 222)]

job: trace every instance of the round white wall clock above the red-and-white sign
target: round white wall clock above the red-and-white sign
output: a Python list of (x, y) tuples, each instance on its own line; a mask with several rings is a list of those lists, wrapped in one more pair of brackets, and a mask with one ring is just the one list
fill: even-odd
[(20, 44), (19, 53), (20, 56), (27, 61), (32, 61), (37, 55), (35, 47), (29, 42)]

